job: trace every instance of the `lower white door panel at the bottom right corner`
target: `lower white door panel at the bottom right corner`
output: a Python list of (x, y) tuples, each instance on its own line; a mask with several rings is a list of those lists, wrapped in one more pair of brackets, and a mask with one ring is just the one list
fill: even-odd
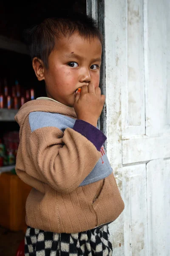
[(170, 160), (147, 164), (149, 256), (170, 255)]

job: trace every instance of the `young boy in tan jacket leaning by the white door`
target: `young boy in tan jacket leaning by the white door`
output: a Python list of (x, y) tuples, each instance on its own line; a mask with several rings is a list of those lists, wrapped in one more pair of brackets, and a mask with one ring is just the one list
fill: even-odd
[[(29, 31), (32, 64), (47, 97), (16, 120), (16, 172), (26, 201), (26, 256), (112, 255), (108, 224), (124, 209), (97, 120), (102, 37), (86, 15), (49, 18)], [(81, 92), (77, 90), (81, 88)]]

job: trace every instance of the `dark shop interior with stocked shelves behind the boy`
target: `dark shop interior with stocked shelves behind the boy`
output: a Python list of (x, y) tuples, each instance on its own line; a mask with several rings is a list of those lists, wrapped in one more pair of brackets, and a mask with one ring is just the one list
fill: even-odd
[[(86, 1), (0, 1), (0, 255), (17, 256), (26, 232), (25, 203), (31, 187), (16, 175), (19, 126), (14, 120), (28, 100), (45, 96), (23, 38), (23, 31), (55, 12), (86, 13)], [(18, 254), (19, 255), (19, 254)]]

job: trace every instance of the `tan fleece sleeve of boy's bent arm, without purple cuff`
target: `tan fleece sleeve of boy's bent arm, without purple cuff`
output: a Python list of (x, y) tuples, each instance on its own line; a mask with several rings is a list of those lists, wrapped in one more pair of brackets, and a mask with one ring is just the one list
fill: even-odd
[[(81, 128), (81, 133), (76, 130), (74, 127), (64, 132), (51, 126), (38, 128), (27, 140), (29, 158), (41, 181), (61, 193), (76, 189), (101, 157), (95, 143), (85, 137), (84, 129)], [(29, 170), (26, 168), (26, 172)]]

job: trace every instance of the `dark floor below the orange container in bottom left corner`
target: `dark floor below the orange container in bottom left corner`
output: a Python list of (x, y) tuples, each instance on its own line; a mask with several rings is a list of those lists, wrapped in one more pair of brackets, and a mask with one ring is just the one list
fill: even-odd
[(0, 227), (0, 256), (16, 256), (17, 248), (24, 236), (23, 231), (13, 232)]

